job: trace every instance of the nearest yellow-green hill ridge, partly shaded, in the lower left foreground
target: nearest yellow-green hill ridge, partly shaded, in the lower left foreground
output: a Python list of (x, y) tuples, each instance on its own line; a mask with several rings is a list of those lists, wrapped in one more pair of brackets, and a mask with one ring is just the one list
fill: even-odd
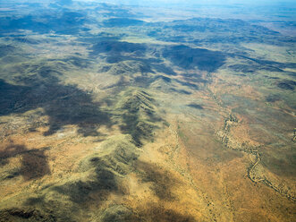
[[(77, 221), (76, 217), (88, 213), (87, 206), (91, 202), (95, 201), (100, 206), (112, 192), (124, 193), (121, 180), (133, 169), (133, 162), (140, 151), (133, 144), (131, 135), (112, 136), (96, 150), (96, 153), (80, 161), (73, 172), (74, 177), (63, 180), (61, 184), (44, 187), (37, 197), (30, 197), (25, 205), (54, 210), (53, 215), (59, 221)], [(103, 211), (102, 221), (117, 221), (110, 219), (131, 216), (127, 209), (114, 208)], [(122, 212), (125, 212), (125, 216)]]

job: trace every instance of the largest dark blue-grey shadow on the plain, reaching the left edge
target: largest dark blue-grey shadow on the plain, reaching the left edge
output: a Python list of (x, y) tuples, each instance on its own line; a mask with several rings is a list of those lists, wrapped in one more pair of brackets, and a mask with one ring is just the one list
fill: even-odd
[(77, 125), (83, 136), (96, 136), (100, 125), (112, 124), (110, 115), (93, 102), (91, 95), (76, 85), (61, 84), (52, 73), (38, 73), (17, 81), (22, 85), (0, 80), (0, 115), (21, 114), (42, 107), (43, 115), (48, 115), (46, 136), (68, 124)]

